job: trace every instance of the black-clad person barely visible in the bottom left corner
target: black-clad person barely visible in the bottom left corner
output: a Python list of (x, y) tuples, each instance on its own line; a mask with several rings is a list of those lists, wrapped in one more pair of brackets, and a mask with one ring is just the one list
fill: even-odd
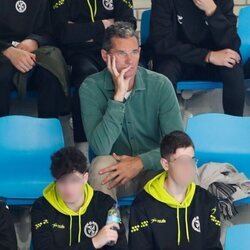
[(0, 249), (17, 250), (14, 224), (8, 207), (0, 201)]

